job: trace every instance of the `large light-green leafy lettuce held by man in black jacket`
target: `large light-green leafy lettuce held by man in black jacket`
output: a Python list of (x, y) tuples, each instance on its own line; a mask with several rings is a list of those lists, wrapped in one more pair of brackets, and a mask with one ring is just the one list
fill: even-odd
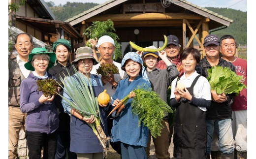
[(239, 94), (244, 88), (247, 88), (243, 82), (243, 76), (237, 75), (234, 71), (228, 67), (213, 66), (208, 69), (208, 81), (211, 86), (211, 90), (216, 91), (217, 94)]

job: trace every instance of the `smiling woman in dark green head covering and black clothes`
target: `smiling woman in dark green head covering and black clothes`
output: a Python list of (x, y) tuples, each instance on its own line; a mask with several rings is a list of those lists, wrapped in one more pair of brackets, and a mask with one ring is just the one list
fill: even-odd
[[(69, 55), (72, 51), (72, 46), (69, 40), (58, 39), (53, 43), (53, 51), (56, 55), (56, 65), (49, 69), (49, 73), (56, 77), (57, 82), (61, 83), (60, 77), (64, 78), (64, 75), (74, 74), (75, 71), (72, 65), (69, 63)], [(63, 84), (62, 84), (63, 85)], [(63, 89), (60, 89), (60, 95), (63, 95)], [(56, 104), (59, 110), (59, 130), (58, 130), (58, 142), (55, 154), (55, 159), (77, 159), (76, 153), (69, 151), (70, 146), (70, 117), (64, 112), (62, 106), (62, 97), (56, 95)]]

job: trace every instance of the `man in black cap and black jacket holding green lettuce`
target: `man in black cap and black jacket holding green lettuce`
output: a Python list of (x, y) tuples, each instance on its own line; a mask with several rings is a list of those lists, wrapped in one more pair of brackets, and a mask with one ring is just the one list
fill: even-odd
[[(235, 71), (235, 66), (230, 62), (220, 58), (220, 40), (216, 35), (207, 35), (204, 38), (204, 51), (206, 56), (200, 61), (199, 65), (208, 77), (207, 70), (212, 66), (218, 65), (228, 67)], [(231, 104), (235, 94), (217, 94), (211, 91), (212, 103), (206, 111), (207, 125), (207, 158), (210, 159), (211, 143), (213, 132), (216, 131), (219, 139), (221, 159), (233, 159), (233, 135), (231, 127)], [(213, 159), (213, 155), (212, 159)]]

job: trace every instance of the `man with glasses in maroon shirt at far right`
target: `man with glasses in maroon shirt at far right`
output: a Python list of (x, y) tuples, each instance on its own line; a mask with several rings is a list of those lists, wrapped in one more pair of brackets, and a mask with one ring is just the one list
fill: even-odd
[[(247, 86), (247, 61), (235, 56), (236, 41), (231, 35), (220, 38), (223, 59), (236, 67), (236, 74), (244, 77)], [(247, 159), (247, 89), (235, 96), (232, 104), (232, 131), (235, 140), (234, 159)]]

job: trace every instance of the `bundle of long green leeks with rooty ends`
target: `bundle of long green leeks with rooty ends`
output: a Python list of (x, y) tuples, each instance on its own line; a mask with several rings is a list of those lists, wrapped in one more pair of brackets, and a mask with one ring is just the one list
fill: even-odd
[[(106, 152), (107, 144), (110, 138), (106, 136), (102, 127), (100, 126), (100, 121), (102, 122), (102, 120), (100, 117), (97, 97), (94, 95), (94, 93), (91, 94), (91, 92), (93, 92), (92, 84), (88, 75), (85, 77), (83, 74), (78, 73), (74, 65), (72, 66), (77, 76), (70, 77), (69, 73), (67, 76), (64, 75), (64, 78), (61, 77), (61, 82), (64, 84), (64, 86), (60, 85), (63, 89), (65, 88), (65, 93), (72, 99), (72, 102), (66, 99), (63, 95), (59, 95), (63, 98), (63, 100), (67, 102), (71, 108), (76, 109), (86, 118), (90, 118), (91, 115), (95, 116), (95, 122), (88, 125), (92, 127), (95, 135), (101, 143), (104, 152)], [(90, 89), (88, 88), (87, 82)]]

